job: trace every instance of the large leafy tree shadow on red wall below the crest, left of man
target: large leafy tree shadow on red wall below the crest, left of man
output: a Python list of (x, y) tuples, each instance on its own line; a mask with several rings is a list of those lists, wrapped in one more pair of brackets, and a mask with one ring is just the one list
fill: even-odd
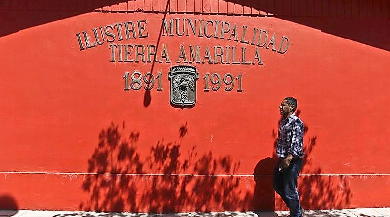
[[(98, 147), (88, 160), (83, 190), (88, 199), (80, 210), (170, 213), (248, 209), (251, 194), (239, 188), (234, 174), (240, 164), (229, 155), (199, 154), (196, 146), (182, 148), (187, 123), (178, 139), (161, 139), (150, 145), (149, 153), (138, 146), (140, 133), (125, 133), (125, 124), (111, 124), (99, 134)], [(186, 146), (188, 147), (188, 146)], [(191, 147), (191, 146), (190, 146)], [(153, 174), (151, 174), (153, 173)]]

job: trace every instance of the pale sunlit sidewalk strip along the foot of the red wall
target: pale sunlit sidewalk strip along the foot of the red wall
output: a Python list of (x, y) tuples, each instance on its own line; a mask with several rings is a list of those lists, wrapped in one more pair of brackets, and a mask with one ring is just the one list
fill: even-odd
[[(97, 213), (80, 211), (0, 210), (0, 217), (285, 217), (287, 211), (215, 213)], [(390, 217), (390, 207), (344, 210), (307, 210), (303, 217)]]

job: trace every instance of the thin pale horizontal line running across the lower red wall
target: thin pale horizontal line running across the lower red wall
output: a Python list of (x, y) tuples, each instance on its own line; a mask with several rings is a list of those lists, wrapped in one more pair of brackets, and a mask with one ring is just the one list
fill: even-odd
[[(138, 174), (138, 173), (72, 173), (72, 172), (21, 172), (0, 171), (0, 174), (53, 174), (53, 175), (117, 175), (117, 176), (220, 176), (220, 177), (252, 177), (252, 174)], [(272, 176), (272, 175), (259, 175)], [(299, 174), (299, 176), (390, 176), (390, 173), (322, 173), (322, 174)]]

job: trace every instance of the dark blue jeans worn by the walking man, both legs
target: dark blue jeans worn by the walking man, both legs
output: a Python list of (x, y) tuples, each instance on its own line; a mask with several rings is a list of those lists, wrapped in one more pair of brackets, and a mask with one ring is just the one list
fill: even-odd
[(273, 171), (273, 188), (290, 208), (292, 217), (302, 217), (299, 204), (298, 175), (302, 169), (302, 158), (292, 158), (289, 167), (279, 171), (281, 160)]

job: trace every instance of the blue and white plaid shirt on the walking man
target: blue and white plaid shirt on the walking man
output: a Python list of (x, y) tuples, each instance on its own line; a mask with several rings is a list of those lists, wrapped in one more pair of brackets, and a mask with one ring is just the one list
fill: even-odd
[(302, 158), (303, 153), (303, 130), (304, 125), (295, 113), (290, 117), (282, 119), (279, 125), (279, 136), (277, 138), (276, 155), (279, 158), (286, 158), (288, 153), (293, 157)]

